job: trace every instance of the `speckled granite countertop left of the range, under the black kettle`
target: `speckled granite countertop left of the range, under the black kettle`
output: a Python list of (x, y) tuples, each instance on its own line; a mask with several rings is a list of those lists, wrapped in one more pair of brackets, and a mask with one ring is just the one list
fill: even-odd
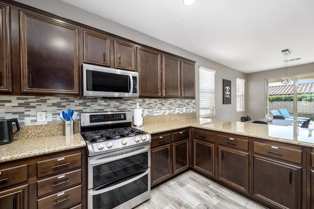
[(14, 139), (0, 146), (0, 163), (85, 147), (80, 133), (73, 136), (53, 135)]

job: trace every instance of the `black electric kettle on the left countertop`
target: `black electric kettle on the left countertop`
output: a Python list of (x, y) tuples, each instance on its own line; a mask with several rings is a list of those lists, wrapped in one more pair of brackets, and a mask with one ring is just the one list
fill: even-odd
[[(17, 130), (13, 132), (12, 124), (15, 123)], [(0, 121), (0, 145), (11, 143), (13, 136), (20, 131), (18, 119)]]

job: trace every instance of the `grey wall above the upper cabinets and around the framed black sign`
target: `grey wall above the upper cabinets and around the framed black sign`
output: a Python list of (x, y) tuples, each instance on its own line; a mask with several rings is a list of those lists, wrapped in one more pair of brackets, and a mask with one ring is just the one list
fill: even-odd
[[(222, 120), (234, 120), (239, 121), (240, 116), (246, 115), (245, 113), (236, 113), (236, 100), (235, 100), (235, 78), (245, 78), (245, 74), (236, 71), (227, 66), (221, 65), (217, 62), (211, 61), (199, 55), (191, 52), (187, 52), (179, 47), (175, 47), (171, 44), (148, 36), (139, 31), (133, 30), (129, 27), (122, 26), (118, 23), (112, 22), (108, 19), (102, 18), (95, 14), (89, 13), (85, 10), (74, 7), (59, 0), (17, 0), (21, 3), (42, 9), (52, 14), (58, 15), (63, 18), (67, 18), (88, 26), (99, 28), (106, 32), (119, 35), (121, 37), (133, 40), (135, 42), (145, 44), (165, 52), (177, 54), (179, 56), (196, 61), (196, 92), (198, 92), (198, 69), (200, 66), (212, 69), (216, 71), (216, 115), (214, 118)], [(128, 14), (130, 15), (130, 14)], [(197, 32), (197, 31), (196, 31)], [(199, 46), (202, 47), (202, 46)], [(222, 104), (222, 79), (228, 79), (232, 81), (232, 104)], [(196, 98), (198, 101), (198, 97)], [(198, 103), (197, 107), (198, 108)]]

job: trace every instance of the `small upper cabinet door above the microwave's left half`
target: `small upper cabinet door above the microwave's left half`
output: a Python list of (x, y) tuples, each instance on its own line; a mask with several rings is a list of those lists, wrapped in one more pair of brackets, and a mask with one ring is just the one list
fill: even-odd
[(84, 62), (110, 67), (110, 38), (88, 30), (83, 30)]

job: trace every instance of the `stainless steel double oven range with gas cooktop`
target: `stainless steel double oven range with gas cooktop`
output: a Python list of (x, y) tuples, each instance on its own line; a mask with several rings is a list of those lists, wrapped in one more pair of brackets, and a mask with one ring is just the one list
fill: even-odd
[(87, 143), (88, 209), (131, 209), (151, 193), (151, 135), (131, 127), (131, 112), (81, 113)]

